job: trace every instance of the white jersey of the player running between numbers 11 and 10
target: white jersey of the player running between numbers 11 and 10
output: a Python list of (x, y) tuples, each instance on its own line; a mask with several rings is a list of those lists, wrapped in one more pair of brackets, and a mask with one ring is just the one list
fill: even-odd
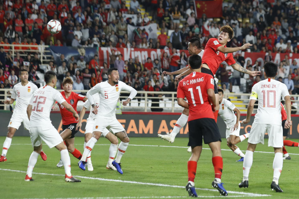
[(220, 107), (218, 114), (223, 119), (224, 123), (226, 124), (226, 127), (235, 125), (237, 121), (237, 116), (233, 111), (236, 108), (235, 105), (232, 104), (229, 100), (223, 98), (219, 106)]

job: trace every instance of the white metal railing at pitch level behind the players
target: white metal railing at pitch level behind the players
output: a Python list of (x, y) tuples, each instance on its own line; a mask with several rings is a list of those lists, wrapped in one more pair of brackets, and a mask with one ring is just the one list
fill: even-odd
[[(9, 105), (3, 104), (4, 100), (9, 99), (11, 97), (12, 89), (0, 89), (0, 109), (9, 110)], [(62, 90), (59, 90), (62, 91)], [(86, 93), (88, 90), (73, 90), (74, 92)], [(159, 91), (137, 91), (137, 95), (127, 106), (122, 107), (122, 111), (142, 111), (148, 112), (151, 109), (161, 109), (163, 108), (163, 112), (181, 112), (182, 107), (177, 104), (176, 92), (159, 92)], [(162, 97), (154, 97), (153, 94), (161, 95)], [(121, 91), (120, 99), (121, 101), (126, 100), (129, 96), (129, 92)], [(249, 102), (248, 93), (230, 93), (227, 94), (226, 98), (230, 98), (232, 103), (240, 109), (242, 113), (246, 113), (247, 105)], [(299, 95), (291, 95), (294, 99), (291, 100), (292, 111), (297, 113), (299, 110)], [(159, 101), (153, 101), (154, 99), (159, 99)], [(78, 106), (82, 107), (83, 103), (78, 103)], [(153, 106), (153, 104), (159, 104), (157, 106)], [(80, 110), (80, 109), (78, 109)], [(256, 113), (256, 108), (254, 109), (254, 113)]]

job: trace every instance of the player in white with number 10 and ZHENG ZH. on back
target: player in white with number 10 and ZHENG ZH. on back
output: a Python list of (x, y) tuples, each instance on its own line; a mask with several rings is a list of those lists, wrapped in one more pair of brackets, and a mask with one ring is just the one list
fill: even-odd
[(265, 80), (256, 83), (252, 87), (247, 107), (247, 117), (242, 121), (244, 124), (250, 122), (250, 116), (257, 99), (259, 99), (259, 105), (248, 138), (248, 146), (243, 162), (243, 180), (239, 183), (240, 188), (248, 187), (248, 176), (253, 162), (253, 152), (257, 143), (264, 144), (264, 135), (268, 132), (268, 146), (272, 146), (275, 152), (271, 188), (272, 190), (275, 189), (276, 192), (282, 192), (282, 189), (278, 185), (278, 179), (282, 170), (283, 146), (280, 110), (281, 96), (285, 99), (287, 111), (287, 121), (285, 122), (284, 127), (289, 128), (292, 125), (292, 122), (291, 100), (287, 86), (274, 79), (277, 75), (277, 68), (276, 64), (267, 62), (264, 65)]

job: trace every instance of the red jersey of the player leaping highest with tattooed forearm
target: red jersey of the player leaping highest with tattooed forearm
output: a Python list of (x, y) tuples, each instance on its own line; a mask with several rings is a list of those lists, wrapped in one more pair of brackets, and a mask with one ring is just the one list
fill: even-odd
[(216, 38), (209, 39), (208, 42), (206, 43), (206, 47), (202, 55), (202, 63), (208, 65), (213, 75), (215, 75), (221, 62), (225, 61), (228, 65), (232, 65), (236, 63), (232, 53), (221, 53), (217, 51), (217, 48), (219, 46), (222, 45), (219, 44), (218, 39)]

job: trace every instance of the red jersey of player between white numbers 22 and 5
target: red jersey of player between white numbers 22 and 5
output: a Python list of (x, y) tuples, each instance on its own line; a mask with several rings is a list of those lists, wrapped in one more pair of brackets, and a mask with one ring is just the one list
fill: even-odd
[[(76, 111), (77, 113), (77, 103), (78, 101), (83, 101), (85, 98), (84, 95), (80, 95), (78, 93), (72, 92), (69, 98), (65, 97), (64, 91), (61, 92), (61, 95), (64, 97), (67, 103), (69, 103)], [(69, 112), (67, 109), (65, 109), (61, 104), (58, 104), (60, 109), (60, 114), (62, 117), (62, 124), (68, 125), (72, 123), (77, 123), (76, 118), (74, 118), (73, 113)]]

